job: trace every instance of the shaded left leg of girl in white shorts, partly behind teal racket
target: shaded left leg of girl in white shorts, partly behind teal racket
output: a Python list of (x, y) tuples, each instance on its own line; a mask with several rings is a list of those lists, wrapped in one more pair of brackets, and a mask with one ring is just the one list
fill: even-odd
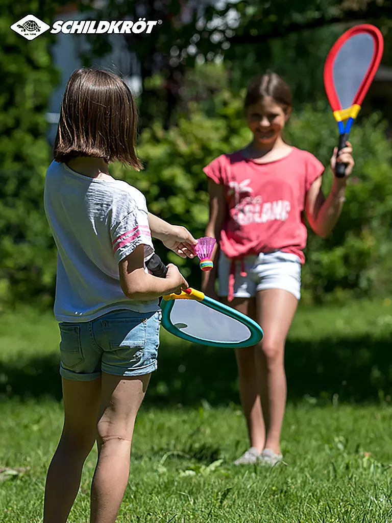
[[(255, 319), (254, 298), (234, 298), (226, 305)], [(238, 368), (238, 386), (241, 405), (244, 410), (248, 436), (251, 447), (256, 447), (260, 452), (264, 448), (265, 429), (261, 413), (261, 403), (257, 380), (257, 369), (255, 361), (255, 347), (236, 349)]]

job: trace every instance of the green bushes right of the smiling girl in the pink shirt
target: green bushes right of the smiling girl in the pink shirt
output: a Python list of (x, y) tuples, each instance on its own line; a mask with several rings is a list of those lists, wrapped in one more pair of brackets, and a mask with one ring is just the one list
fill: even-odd
[[(328, 165), (337, 128), (330, 112), (323, 109), (322, 105), (316, 110), (305, 108), (292, 119), (287, 136)], [(330, 237), (322, 240), (309, 234), (303, 270), (305, 298), (325, 298), (331, 291), (343, 298), (347, 291), (380, 293), (391, 288), (384, 276), (392, 251), (392, 144), (385, 138), (385, 127), (376, 114), (354, 124), (350, 141), (355, 168), (347, 201)], [(331, 182), (332, 174), (326, 169), (326, 194)]]

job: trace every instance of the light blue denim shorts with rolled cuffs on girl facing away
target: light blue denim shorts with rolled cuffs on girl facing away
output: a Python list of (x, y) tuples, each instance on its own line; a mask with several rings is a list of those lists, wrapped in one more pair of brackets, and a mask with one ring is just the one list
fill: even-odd
[(160, 311), (119, 309), (89, 322), (59, 323), (61, 376), (89, 381), (102, 371), (140, 376), (156, 370), (161, 317)]

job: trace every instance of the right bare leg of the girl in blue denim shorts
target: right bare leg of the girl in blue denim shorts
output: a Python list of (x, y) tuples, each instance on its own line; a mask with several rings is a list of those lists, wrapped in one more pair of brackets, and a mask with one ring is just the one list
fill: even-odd
[(91, 486), (91, 523), (114, 523), (128, 484), (136, 414), (151, 374), (124, 378), (102, 372), (98, 463)]

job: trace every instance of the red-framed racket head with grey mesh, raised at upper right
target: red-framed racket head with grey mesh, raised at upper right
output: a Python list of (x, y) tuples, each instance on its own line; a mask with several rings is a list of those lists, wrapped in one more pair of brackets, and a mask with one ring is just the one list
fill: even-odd
[(324, 86), (333, 111), (361, 106), (384, 50), (381, 31), (360, 24), (333, 44), (324, 66)]

